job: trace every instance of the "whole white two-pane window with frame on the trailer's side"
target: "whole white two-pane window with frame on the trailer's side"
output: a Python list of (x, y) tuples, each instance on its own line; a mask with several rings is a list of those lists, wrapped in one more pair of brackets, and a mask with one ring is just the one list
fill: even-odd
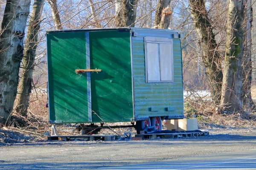
[(146, 82), (172, 82), (172, 39), (145, 37), (144, 41)]

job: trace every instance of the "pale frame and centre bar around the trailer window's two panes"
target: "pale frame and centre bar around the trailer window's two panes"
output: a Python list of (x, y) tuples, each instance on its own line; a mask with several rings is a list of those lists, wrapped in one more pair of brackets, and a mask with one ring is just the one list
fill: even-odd
[[(159, 71), (160, 71), (160, 81), (159, 80), (148, 80), (148, 49), (147, 43), (158, 44), (158, 59), (159, 59)], [(170, 44), (171, 45), (171, 80), (161, 80), (161, 60), (160, 60), (160, 44)], [(173, 63), (173, 40), (172, 38), (163, 37), (144, 37), (144, 48), (145, 48), (145, 82), (173, 82), (174, 81), (174, 63)]]

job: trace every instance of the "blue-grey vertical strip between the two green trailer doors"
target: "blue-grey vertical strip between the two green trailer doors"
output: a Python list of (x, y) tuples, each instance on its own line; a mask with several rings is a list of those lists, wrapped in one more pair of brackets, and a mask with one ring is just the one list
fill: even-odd
[[(85, 32), (85, 48), (86, 48), (86, 68), (90, 69), (90, 39), (89, 31)], [(88, 122), (92, 122), (92, 97), (91, 97), (91, 79), (90, 72), (87, 72), (87, 108), (88, 108)]]

